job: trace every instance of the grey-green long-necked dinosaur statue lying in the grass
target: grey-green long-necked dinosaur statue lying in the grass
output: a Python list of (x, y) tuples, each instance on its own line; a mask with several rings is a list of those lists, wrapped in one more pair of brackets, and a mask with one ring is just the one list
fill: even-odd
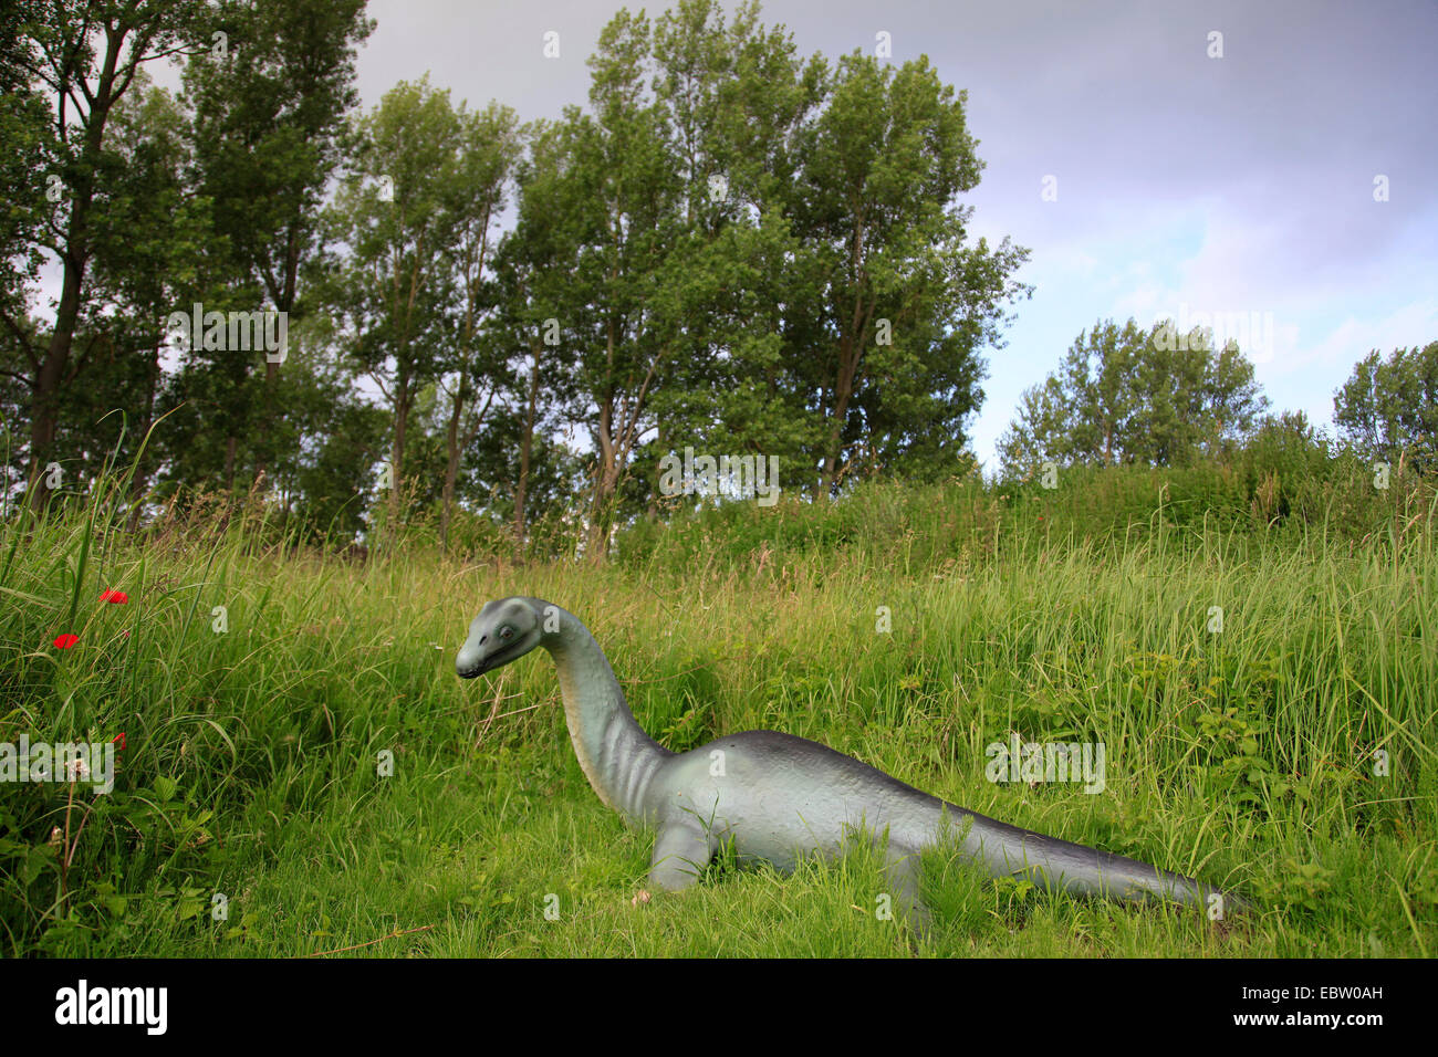
[(689, 887), (731, 843), (739, 863), (765, 860), (788, 871), (804, 856), (837, 857), (846, 838), (869, 833), (887, 834), (893, 894), (920, 925), (917, 853), (940, 843), (956, 844), (994, 877), (1022, 877), (1047, 890), (1204, 907), (1217, 896), (1225, 913), (1247, 909), (1191, 877), (949, 804), (805, 738), (748, 731), (670, 752), (636, 722), (588, 628), (539, 598), (489, 603), (470, 623), (454, 667), (473, 679), (536, 646), (558, 667), (569, 739), (590, 785), (630, 825), (657, 830), (649, 874), (657, 889)]

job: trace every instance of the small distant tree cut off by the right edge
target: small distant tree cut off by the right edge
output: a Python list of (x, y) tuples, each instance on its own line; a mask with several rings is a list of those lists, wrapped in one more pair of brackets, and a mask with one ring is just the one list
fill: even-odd
[(1438, 467), (1438, 341), (1363, 357), (1333, 394), (1333, 421), (1365, 459)]

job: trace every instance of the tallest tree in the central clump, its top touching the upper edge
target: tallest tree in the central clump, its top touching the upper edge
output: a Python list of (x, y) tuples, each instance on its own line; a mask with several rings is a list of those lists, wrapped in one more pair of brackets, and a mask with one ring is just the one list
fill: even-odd
[[(808, 486), (823, 423), (794, 374), (808, 351), (787, 345), (784, 331), (808, 279), (794, 217), (827, 65), (801, 60), (782, 27), (759, 26), (756, 4), (742, 4), (726, 27), (709, 0), (683, 0), (657, 20), (654, 59), (683, 209), (660, 282), (677, 344), (650, 400), (653, 439), (636, 447), (636, 462), (657, 470), (692, 444), (772, 456), (791, 485)], [(656, 476), (633, 489), (651, 516)]]

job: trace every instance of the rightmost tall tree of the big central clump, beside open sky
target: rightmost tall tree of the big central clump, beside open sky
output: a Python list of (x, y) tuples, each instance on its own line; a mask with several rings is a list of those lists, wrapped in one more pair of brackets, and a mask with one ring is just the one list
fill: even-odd
[(963, 102), (928, 58), (896, 72), (854, 52), (818, 119), (797, 221), (818, 282), (797, 298), (812, 306), (797, 329), (824, 414), (824, 490), (866, 443), (956, 454), (922, 423), (962, 439), (982, 398), (969, 361), (997, 339), (999, 301), (1022, 290), (1008, 275), (1027, 250), (963, 246), (971, 210), (952, 200), (982, 168)]

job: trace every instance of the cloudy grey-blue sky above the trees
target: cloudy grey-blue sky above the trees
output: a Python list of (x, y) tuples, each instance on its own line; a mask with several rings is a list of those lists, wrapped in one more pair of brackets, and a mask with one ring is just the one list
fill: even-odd
[[(362, 106), (429, 73), (558, 118), (620, 6), (371, 0)], [(1102, 319), (1218, 324), (1273, 410), (1316, 424), (1369, 351), (1438, 341), (1435, 0), (771, 0), (761, 22), (831, 63), (887, 33), (896, 66), (928, 55), (968, 92), (985, 170), (959, 203), (974, 239), (1031, 250), (1034, 286), (984, 352), (969, 434), (991, 470), (1024, 388)]]

